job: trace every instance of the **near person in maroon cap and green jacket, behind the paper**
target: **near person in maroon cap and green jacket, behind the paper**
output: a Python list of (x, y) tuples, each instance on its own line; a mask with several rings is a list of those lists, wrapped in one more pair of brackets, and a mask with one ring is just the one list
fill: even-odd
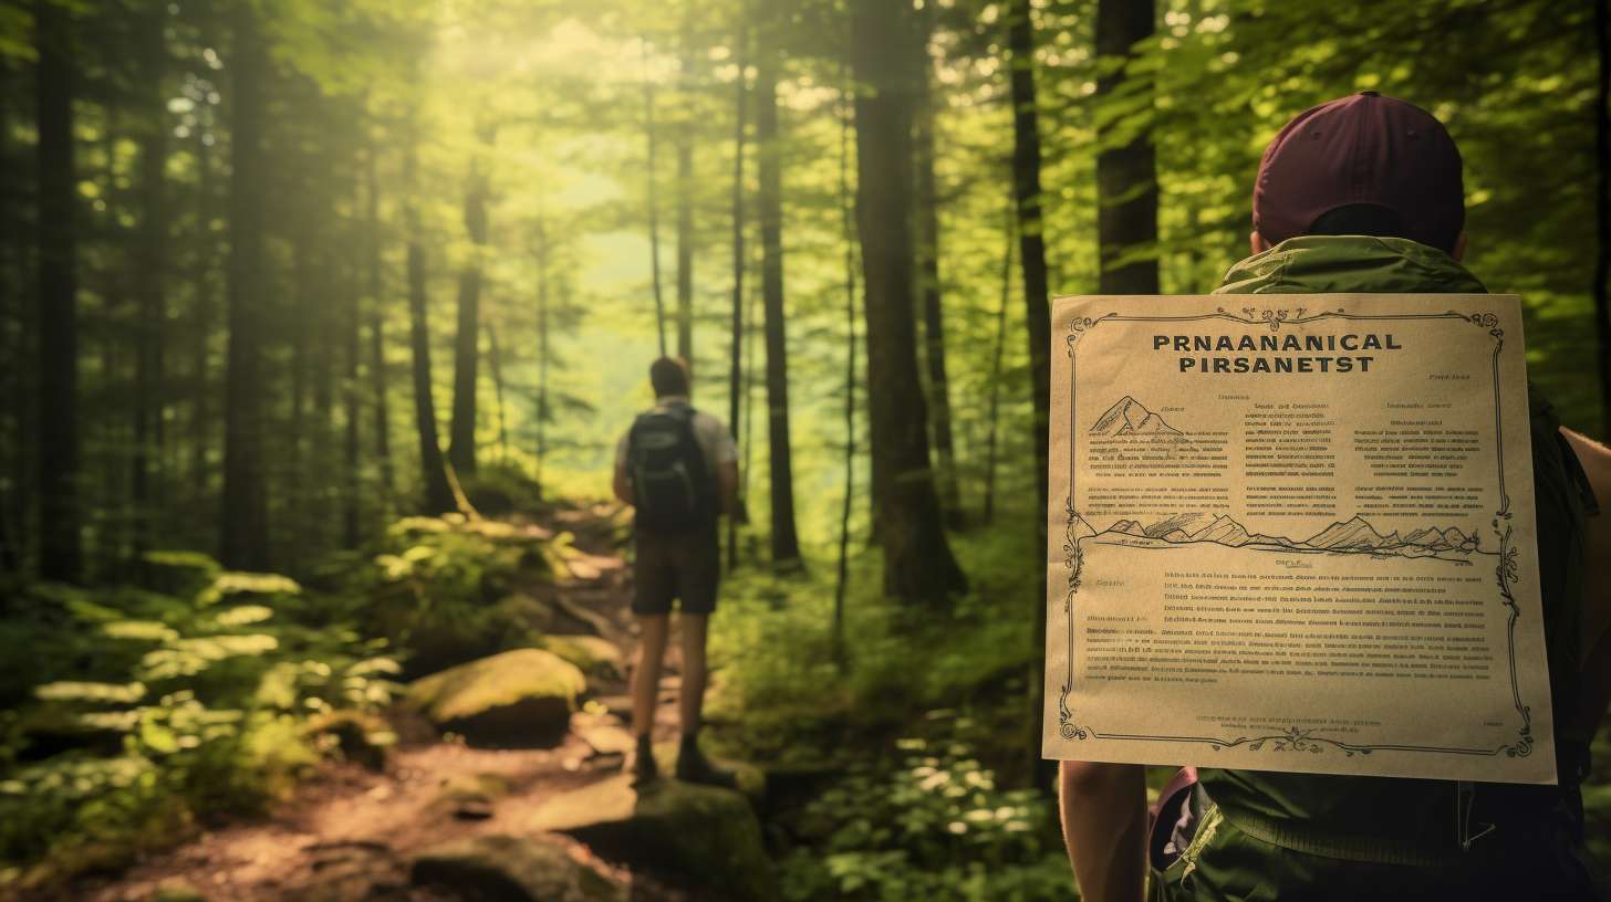
[[(1543, 203), (1547, 200), (1540, 198)], [(1490, 240), (1503, 240), (1493, 237)], [(1363, 92), (1269, 143), (1253, 256), (1216, 293), (1482, 293), (1460, 151), (1410, 103)], [(1611, 451), (1529, 387), (1539, 569), (1559, 786), (1191, 768), (1149, 838), (1141, 765), (1063, 762), (1068, 855), (1091, 902), (1595, 899), (1579, 783), (1611, 694)]]

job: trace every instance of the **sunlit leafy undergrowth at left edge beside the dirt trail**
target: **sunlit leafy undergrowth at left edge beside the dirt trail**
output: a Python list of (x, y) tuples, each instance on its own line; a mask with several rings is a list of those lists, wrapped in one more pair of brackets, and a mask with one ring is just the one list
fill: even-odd
[(0, 715), (0, 863), (118, 863), (201, 818), (263, 810), (333, 751), (309, 715), (390, 702), (396, 662), (350, 628), (287, 617), (316, 604), (293, 580), (190, 570), (213, 578), (187, 599), (31, 586), (26, 615), (0, 623), (0, 648), (52, 636), (60, 654), (35, 657), (32, 699)]

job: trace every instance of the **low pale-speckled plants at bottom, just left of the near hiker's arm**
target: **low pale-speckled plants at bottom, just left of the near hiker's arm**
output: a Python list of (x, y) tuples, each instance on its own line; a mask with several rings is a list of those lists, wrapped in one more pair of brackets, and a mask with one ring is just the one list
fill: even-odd
[(907, 738), (899, 767), (862, 765), (801, 818), (825, 836), (783, 862), (788, 899), (1068, 899), (1050, 802), (1004, 789), (967, 744)]

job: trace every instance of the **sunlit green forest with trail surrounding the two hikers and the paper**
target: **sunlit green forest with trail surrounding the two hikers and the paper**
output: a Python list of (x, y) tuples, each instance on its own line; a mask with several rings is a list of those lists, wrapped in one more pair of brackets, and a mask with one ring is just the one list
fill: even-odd
[[(0, 899), (1078, 897), (1050, 298), (1213, 290), (1379, 90), (1611, 438), (1606, 6), (0, 0)], [(739, 792), (609, 820), (662, 354)]]

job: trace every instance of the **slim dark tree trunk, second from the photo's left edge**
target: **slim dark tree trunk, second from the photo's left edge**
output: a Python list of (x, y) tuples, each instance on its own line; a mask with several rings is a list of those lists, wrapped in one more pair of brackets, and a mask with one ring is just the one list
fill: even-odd
[(140, 35), (142, 77), (147, 85), (145, 122), (140, 129), (140, 193), (142, 219), (139, 266), (134, 292), (139, 303), (135, 388), (134, 388), (134, 459), (130, 499), (134, 503), (134, 552), (151, 548), (151, 445), (163, 417), (163, 341), (166, 338), (166, 300), (163, 275), (168, 269), (168, 211), (164, 209), (164, 171), (168, 168), (168, 43), (164, 35), (166, 6), (147, 11)]

